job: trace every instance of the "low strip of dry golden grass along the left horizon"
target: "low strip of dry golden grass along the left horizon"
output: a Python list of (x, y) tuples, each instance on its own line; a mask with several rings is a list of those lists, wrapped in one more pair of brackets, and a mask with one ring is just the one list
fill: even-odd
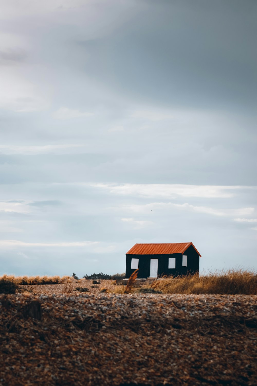
[(70, 276), (14, 276), (3, 275), (0, 279), (10, 280), (17, 284), (64, 284), (70, 283)]

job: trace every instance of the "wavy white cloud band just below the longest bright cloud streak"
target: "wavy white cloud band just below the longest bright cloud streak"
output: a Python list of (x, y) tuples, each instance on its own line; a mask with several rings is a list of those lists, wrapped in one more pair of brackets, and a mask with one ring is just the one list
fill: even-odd
[(178, 210), (187, 210), (190, 212), (206, 213), (209, 215), (221, 216), (221, 217), (230, 217), (235, 215), (250, 215), (254, 212), (254, 208), (216, 209), (212, 207), (199, 207), (195, 205), (190, 205), (188, 203), (174, 204), (171, 202), (168, 202), (168, 203), (153, 202), (146, 205), (127, 205), (127, 206), (115, 207), (114, 209), (117, 211), (126, 210), (128, 212), (135, 212), (135, 213), (149, 213), (149, 212), (155, 213), (160, 211), (166, 212), (167, 210), (178, 209)]

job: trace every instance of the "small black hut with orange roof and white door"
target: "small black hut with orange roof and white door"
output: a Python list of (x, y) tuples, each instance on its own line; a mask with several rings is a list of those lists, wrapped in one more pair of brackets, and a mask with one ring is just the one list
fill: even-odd
[(126, 253), (126, 278), (138, 268), (140, 279), (194, 274), (199, 272), (199, 257), (191, 242), (135, 244)]

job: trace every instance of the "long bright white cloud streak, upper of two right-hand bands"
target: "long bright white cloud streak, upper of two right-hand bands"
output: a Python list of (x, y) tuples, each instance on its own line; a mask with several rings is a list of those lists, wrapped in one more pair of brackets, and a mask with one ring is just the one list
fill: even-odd
[(182, 185), (182, 184), (124, 184), (115, 183), (90, 184), (90, 186), (108, 190), (110, 193), (143, 197), (205, 197), (230, 198), (239, 189), (255, 189), (253, 186), (215, 186), (215, 185)]

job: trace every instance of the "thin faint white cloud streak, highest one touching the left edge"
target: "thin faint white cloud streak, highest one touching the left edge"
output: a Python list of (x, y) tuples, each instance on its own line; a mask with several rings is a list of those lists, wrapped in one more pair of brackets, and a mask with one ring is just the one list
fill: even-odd
[(83, 147), (81, 144), (57, 144), (43, 146), (17, 146), (17, 145), (0, 145), (0, 153), (2, 154), (21, 154), (21, 155), (36, 155), (36, 154), (66, 154), (73, 149)]

